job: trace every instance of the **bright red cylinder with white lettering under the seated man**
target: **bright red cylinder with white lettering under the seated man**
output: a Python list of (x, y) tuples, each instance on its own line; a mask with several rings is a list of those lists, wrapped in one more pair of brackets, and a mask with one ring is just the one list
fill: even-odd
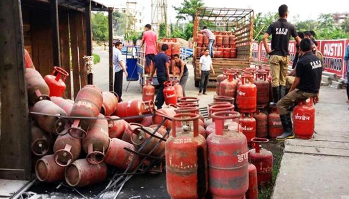
[(307, 101), (300, 101), (293, 109), (293, 132), (296, 137), (310, 139), (313, 137), (315, 127), (315, 108), (313, 98)]

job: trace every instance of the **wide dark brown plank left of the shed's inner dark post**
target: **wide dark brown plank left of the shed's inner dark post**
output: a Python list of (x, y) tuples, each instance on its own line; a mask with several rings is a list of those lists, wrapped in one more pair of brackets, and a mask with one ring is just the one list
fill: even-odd
[(47, 10), (30, 12), (30, 32), (32, 61), (42, 76), (52, 73), (52, 34), (50, 12)]

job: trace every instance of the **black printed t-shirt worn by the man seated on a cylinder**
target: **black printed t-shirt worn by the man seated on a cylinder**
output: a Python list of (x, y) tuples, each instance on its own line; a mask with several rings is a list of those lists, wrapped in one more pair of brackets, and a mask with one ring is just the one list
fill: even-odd
[(297, 89), (306, 93), (319, 93), (322, 62), (312, 52), (308, 52), (299, 59), (296, 67), (296, 77), (301, 78)]

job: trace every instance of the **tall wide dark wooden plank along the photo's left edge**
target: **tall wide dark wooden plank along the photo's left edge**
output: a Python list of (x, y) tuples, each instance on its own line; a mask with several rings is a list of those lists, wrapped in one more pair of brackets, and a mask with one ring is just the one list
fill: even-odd
[(0, 176), (8, 180), (30, 180), (30, 131), (19, 0), (0, 1), (0, 21), (3, 30), (0, 31)]

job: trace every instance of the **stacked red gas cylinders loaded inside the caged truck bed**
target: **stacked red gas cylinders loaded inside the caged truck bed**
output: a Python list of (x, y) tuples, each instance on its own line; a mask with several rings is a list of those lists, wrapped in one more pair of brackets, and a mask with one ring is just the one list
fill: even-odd
[[(232, 32), (212, 32), (215, 36), (213, 47), (214, 58), (237, 57), (236, 37)], [(205, 34), (198, 33), (196, 37), (196, 57), (201, 57), (207, 48), (208, 38)]]

